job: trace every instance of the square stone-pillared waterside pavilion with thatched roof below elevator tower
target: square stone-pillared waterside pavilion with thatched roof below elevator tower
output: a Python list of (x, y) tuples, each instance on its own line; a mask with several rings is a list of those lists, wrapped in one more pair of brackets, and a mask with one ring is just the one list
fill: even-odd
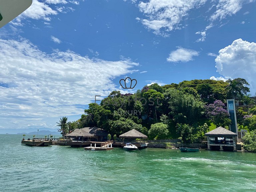
[(208, 133), (207, 136), (208, 150), (228, 150), (236, 151), (237, 134), (223, 127), (218, 127)]

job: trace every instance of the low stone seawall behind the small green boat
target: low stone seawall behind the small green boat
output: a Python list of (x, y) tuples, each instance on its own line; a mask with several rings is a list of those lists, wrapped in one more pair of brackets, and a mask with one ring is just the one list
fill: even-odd
[(149, 143), (149, 148), (166, 148), (166, 149), (178, 149), (179, 147), (189, 147), (189, 148), (202, 148), (206, 149), (207, 144), (205, 143), (191, 143), (191, 144), (182, 144), (182, 143)]

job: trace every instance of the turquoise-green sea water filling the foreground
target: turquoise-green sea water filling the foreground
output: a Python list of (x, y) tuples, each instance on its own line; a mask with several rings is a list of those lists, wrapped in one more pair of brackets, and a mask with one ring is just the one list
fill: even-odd
[(256, 191), (255, 153), (85, 151), (26, 146), (22, 138), (0, 135), (0, 191)]

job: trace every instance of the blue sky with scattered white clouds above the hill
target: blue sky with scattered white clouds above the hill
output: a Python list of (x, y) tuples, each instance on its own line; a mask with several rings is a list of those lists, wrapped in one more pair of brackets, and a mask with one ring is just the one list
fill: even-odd
[[(0, 133), (75, 121), (113, 90), (244, 78), (256, 92), (254, 0), (33, 0), (0, 28)], [(130, 77), (137, 84), (123, 89)]]

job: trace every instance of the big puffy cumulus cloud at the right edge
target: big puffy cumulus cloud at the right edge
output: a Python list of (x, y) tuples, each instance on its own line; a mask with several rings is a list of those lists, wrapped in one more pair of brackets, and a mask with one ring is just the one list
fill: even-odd
[(225, 77), (244, 78), (256, 90), (256, 43), (237, 39), (219, 51), (215, 59), (217, 72)]

